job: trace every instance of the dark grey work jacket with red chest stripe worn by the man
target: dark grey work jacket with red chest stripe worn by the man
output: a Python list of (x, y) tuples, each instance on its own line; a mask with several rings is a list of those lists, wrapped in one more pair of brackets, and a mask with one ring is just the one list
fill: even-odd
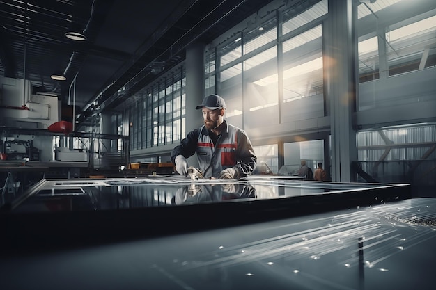
[(216, 145), (204, 126), (190, 131), (171, 152), (171, 161), (175, 163), (178, 155), (188, 158), (196, 153), (204, 177), (218, 177), (221, 170), (231, 167), (238, 169), (240, 177), (250, 175), (256, 168), (257, 158), (247, 134), (225, 120), (223, 126), (225, 129)]

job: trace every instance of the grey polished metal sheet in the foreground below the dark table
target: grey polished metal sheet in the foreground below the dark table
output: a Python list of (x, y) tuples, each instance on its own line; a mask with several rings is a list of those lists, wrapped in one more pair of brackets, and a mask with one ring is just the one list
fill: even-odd
[(154, 239), (21, 253), (0, 259), (1, 283), (4, 289), (38, 285), (47, 290), (433, 289), (435, 220), (436, 200), (419, 198)]

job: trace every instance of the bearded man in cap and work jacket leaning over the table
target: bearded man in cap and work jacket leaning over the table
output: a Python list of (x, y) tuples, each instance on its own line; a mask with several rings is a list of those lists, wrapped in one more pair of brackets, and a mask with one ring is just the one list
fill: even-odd
[(204, 125), (190, 131), (171, 152), (176, 171), (187, 176), (186, 159), (196, 153), (203, 177), (238, 179), (250, 175), (257, 161), (253, 146), (243, 130), (224, 120), (224, 99), (208, 95), (196, 109), (201, 109)]

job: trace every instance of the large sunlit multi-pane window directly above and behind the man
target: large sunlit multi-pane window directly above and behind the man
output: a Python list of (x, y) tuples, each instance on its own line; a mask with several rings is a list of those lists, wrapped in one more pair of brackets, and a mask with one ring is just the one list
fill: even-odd
[[(310, 5), (259, 13), (216, 48), (217, 79), (207, 76), (205, 88), (219, 82), (228, 122), (249, 129), (324, 116), (322, 20), (327, 0)], [(206, 74), (210, 65), (207, 58)]]

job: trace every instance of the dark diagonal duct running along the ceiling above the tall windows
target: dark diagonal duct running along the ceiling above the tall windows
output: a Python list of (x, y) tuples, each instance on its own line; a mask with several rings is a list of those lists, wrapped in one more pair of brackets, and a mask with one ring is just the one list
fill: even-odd
[[(153, 35), (155, 42), (146, 41), (145, 47), (139, 49), (143, 51), (143, 54), (134, 61), (134, 65), (127, 68), (116, 81), (104, 88), (97, 97), (86, 104), (77, 118), (79, 123), (84, 122), (86, 118), (95, 113), (116, 108), (134, 93), (141, 90), (146, 83), (150, 83), (160, 73), (164, 72), (162, 70), (162, 72), (157, 73), (157, 70), (153, 72), (152, 69), (151, 72), (153, 73), (150, 73), (150, 67), (153, 68), (157, 59), (164, 59), (165, 61), (159, 61), (159, 63), (164, 63), (165, 70), (169, 69), (185, 58), (187, 45), (200, 40), (206, 33), (210, 34), (211, 29), (217, 34), (208, 35), (208, 38), (215, 38), (222, 31), (230, 29), (240, 22), (241, 15), (247, 17), (270, 1), (250, 1), (249, 3), (245, 0), (194, 2), (185, 11), (184, 15), (176, 19), (176, 22), (164, 23), (162, 29), (157, 29), (156, 35)], [(225, 24), (224, 19), (226, 19)], [(153, 49), (150, 49), (152, 47)], [(119, 91), (120, 88), (123, 88), (122, 93)], [(95, 108), (93, 105), (95, 99), (100, 99), (99, 104), (101, 105), (99, 108)]]

